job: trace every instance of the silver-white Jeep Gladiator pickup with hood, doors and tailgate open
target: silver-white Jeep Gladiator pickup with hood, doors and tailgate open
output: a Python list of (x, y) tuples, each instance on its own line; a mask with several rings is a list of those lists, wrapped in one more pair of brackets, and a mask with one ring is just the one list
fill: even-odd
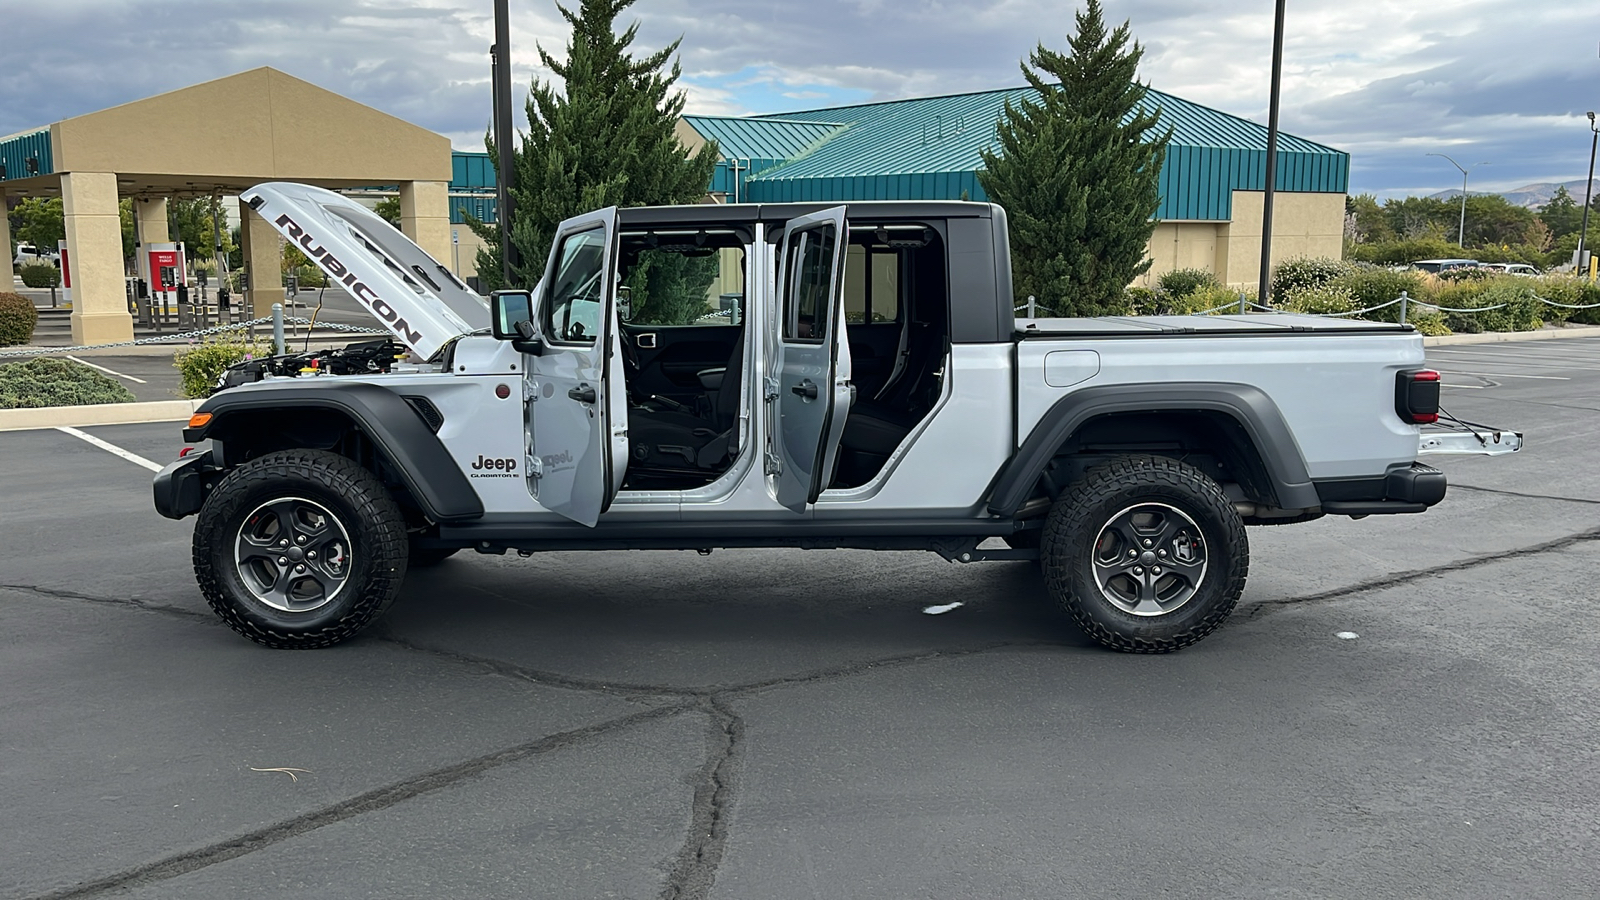
[(344, 197), (245, 200), (394, 335), (235, 367), (155, 477), (270, 647), (459, 549), (763, 546), (1037, 557), (1096, 641), (1168, 652), (1234, 609), (1245, 525), (1422, 512), (1419, 456), (1522, 445), (1434, 424), (1406, 325), (1018, 320), (989, 203), (598, 210), (485, 299)]

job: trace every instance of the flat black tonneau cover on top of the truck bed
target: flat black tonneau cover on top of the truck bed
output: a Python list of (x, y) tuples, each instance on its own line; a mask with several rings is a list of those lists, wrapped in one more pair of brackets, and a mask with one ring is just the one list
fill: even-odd
[(1411, 325), (1331, 319), (1294, 312), (1248, 315), (1101, 315), (1096, 319), (1018, 319), (1018, 338), (1139, 338), (1168, 335), (1349, 335), (1410, 333)]

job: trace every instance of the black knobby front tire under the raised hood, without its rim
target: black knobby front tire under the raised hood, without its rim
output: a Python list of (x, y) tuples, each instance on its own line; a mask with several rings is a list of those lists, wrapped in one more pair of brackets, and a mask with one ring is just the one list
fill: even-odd
[[(235, 544), (245, 517), (275, 498), (304, 498), (325, 508), (349, 535), (344, 586), (310, 612), (285, 612), (245, 586)], [(224, 623), (282, 650), (312, 650), (347, 641), (394, 604), (406, 572), (405, 516), (378, 477), (338, 453), (280, 450), (251, 460), (222, 479), (195, 520), (194, 567), (200, 593)]]

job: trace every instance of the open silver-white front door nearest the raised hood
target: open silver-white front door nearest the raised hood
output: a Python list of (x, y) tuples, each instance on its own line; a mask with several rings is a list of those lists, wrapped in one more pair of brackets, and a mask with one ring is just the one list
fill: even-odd
[(614, 207), (562, 223), (534, 298), (539, 352), (523, 356), (528, 490), (582, 525), (611, 504), (627, 464), (627, 410), (618, 416), (608, 404), (626, 400), (614, 258)]

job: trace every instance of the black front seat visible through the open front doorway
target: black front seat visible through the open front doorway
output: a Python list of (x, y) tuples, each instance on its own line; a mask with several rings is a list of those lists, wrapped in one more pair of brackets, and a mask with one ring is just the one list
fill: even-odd
[(634, 407), (627, 416), (627, 442), (640, 469), (715, 471), (736, 450), (739, 397), (744, 388), (744, 338), (733, 343), (710, 410)]

